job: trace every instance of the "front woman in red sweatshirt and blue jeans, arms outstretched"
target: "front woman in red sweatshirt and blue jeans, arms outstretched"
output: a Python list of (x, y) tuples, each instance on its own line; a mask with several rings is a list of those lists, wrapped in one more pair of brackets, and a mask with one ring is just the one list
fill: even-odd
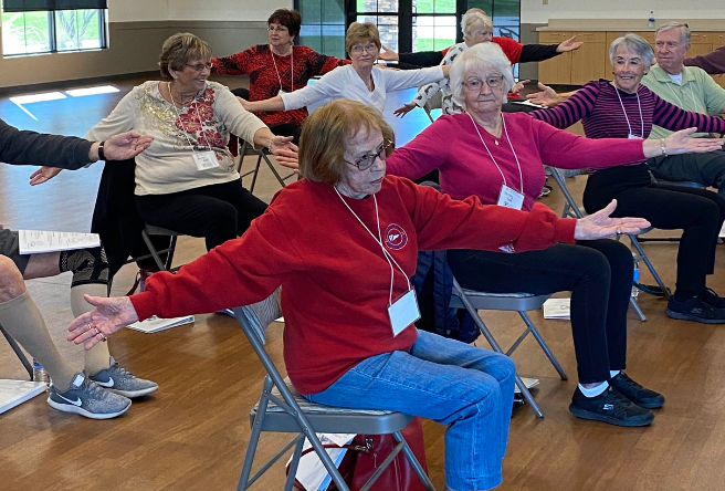
[(318, 108), (302, 129), (305, 179), (280, 191), (242, 238), (176, 275), (154, 274), (146, 291), (130, 299), (88, 297), (96, 311), (76, 318), (69, 338), (87, 342), (87, 348), (154, 314), (251, 304), (282, 285), (284, 361), (301, 394), (315, 403), (450, 425), (448, 489), (500, 484), (514, 364), (416, 330), (409, 279), (418, 250), (540, 249), (635, 231), (647, 221), (610, 219), (613, 202), (575, 221), (543, 205), (521, 211), (483, 206), (475, 197), (453, 200), (386, 176), (391, 137), (380, 113), (361, 103), (337, 100)]

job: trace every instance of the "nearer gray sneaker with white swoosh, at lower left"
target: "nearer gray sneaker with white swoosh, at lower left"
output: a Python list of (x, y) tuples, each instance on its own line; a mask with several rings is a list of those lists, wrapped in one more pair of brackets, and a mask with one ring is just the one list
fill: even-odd
[(75, 412), (91, 419), (111, 419), (126, 412), (130, 399), (104, 390), (91, 382), (85, 372), (78, 372), (65, 391), (59, 391), (51, 384), (48, 404), (59, 411)]

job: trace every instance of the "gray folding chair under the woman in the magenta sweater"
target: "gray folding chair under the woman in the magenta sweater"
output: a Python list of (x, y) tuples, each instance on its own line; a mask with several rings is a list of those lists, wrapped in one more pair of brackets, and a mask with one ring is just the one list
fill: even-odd
[[(486, 341), (495, 352), (502, 353), (506, 356), (511, 356), (514, 353), (514, 351), (526, 338), (526, 336), (528, 336), (528, 334), (532, 334), (536, 339), (536, 342), (538, 343), (538, 345), (544, 351), (544, 353), (546, 354), (546, 357), (549, 358), (549, 362), (551, 362), (551, 365), (559, 374), (559, 377), (561, 377), (561, 380), (568, 379), (567, 374), (564, 372), (564, 368), (561, 368), (561, 365), (556, 359), (556, 356), (554, 356), (554, 353), (551, 353), (551, 349), (548, 347), (548, 345), (542, 337), (542, 334), (538, 332), (532, 320), (526, 314), (527, 311), (535, 311), (540, 309), (542, 305), (544, 305), (544, 302), (546, 302), (546, 300), (550, 295), (534, 295), (532, 293), (477, 292), (474, 290), (467, 290), (461, 288), (461, 285), (455, 280), (455, 278), (453, 279), (452, 293), (453, 295), (451, 297), (451, 307), (465, 309), (469, 312), (469, 314), (471, 314), (471, 316), (473, 317), (473, 322), (481, 331), (481, 334), (484, 335), (484, 337), (486, 338)], [(491, 331), (488, 331), (488, 327), (486, 327), (483, 320), (481, 320), (481, 317), (479, 316), (477, 311), (480, 310), (481, 311), (516, 311), (518, 312), (518, 315), (521, 315), (522, 320), (526, 324), (526, 330), (522, 333), (521, 336), (518, 336), (518, 338), (514, 342), (514, 344), (511, 345), (508, 351), (504, 352), (501, 345), (493, 337)], [(522, 380), (518, 374), (516, 374), (516, 386), (522, 391), (524, 399), (526, 399), (526, 401), (530, 404), (532, 408), (536, 412), (536, 416), (543, 418), (544, 412), (534, 400), (532, 393), (528, 390), (528, 388), (524, 384), (524, 380)]]

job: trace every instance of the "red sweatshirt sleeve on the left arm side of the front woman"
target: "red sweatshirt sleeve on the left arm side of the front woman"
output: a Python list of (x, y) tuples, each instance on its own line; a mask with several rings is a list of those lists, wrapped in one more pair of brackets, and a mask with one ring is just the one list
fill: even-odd
[(141, 321), (260, 302), (282, 284), (286, 273), (301, 267), (291, 243), (274, 210), (267, 210), (241, 238), (212, 249), (177, 274), (153, 274), (146, 290), (130, 301)]

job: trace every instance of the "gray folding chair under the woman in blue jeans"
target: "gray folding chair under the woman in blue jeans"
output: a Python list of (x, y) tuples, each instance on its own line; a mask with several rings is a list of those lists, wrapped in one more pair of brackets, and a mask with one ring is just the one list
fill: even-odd
[[(277, 290), (263, 302), (233, 309), (234, 315), (249, 338), (254, 353), (256, 353), (267, 373), (264, 377), (260, 401), (250, 412), (252, 435), (250, 436), (244, 464), (237, 489), (239, 491), (246, 490), (274, 462), (294, 447), (293, 459), (290, 463), (290, 473), (284, 488), (285, 491), (291, 491), (297, 472), (302, 448), (305, 439), (307, 439), (325, 466), (325, 469), (329, 472), (332, 481), (337, 489), (339, 491), (349, 491), (335, 463), (323, 448), (319, 438), (315, 435), (317, 432), (325, 432), (393, 435), (398, 445), (390, 456), (380, 462), (380, 467), (370, 477), (370, 480), (361, 491), (367, 491), (372, 485), (375, 480), (378, 479), (400, 451), (408, 458), (425, 489), (428, 491), (435, 491), (420, 462), (416, 459), (416, 456), (400, 433), (412, 421), (412, 416), (401, 412), (347, 409), (309, 403), (295, 391), (288, 379), (282, 378), (270, 355), (264, 349), (266, 328), (275, 318), (282, 315), (280, 293), (281, 290)], [(291, 432), (296, 435), (292, 441), (264, 463), (254, 476), (251, 476), (254, 455), (262, 431)]]

